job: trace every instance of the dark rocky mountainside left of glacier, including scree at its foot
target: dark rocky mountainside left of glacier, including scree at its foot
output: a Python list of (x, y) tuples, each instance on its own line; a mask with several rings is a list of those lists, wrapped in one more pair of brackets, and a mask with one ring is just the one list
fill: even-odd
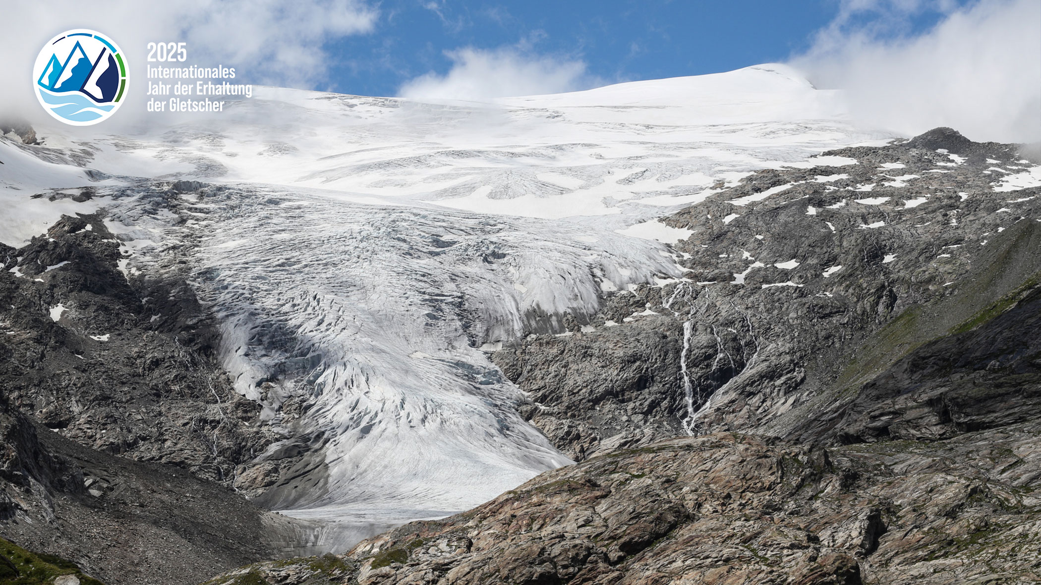
[(109, 585), (271, 558), (295, 528), (227, 486), (273, 435), (186, 283), (122, 256), (97, 215), (0, 248), (0, 534)]

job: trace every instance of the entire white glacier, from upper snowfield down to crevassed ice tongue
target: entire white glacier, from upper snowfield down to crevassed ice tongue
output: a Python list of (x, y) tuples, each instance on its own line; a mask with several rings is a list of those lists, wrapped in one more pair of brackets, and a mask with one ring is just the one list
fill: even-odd
[[(482, 349), (675, 279), (684, 230), (654, 221), (667, 211), (886, 137), (772, 65), (494, 103), (258, 88), (221, 116), (147, 122), (42, 128), (47, 149), (4, 138), (0, 201), (17, 211), (0, 240), (105, 206), (128, 274), (188, 262), (236, 387), (287, 435), (261, 456), (279, 476), (262, 501), (377, 524), (568, 462)], [(185, 179), (214, 186), (155, 182)], [(68, 198), (83, 186), (92, 199)]]

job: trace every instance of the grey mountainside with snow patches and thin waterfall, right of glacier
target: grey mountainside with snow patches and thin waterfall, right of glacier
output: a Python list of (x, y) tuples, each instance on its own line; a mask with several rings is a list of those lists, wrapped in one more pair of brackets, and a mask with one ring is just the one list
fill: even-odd
[[(949, 433), (972, 410), (950, 400), (968, 390), (910, 391), (917, 386), (893, 373), (872, 380), (923, 344), (940, 345), (919, 352), (949, 352), (943, 344), (960, 341), (938, 339), (1026, 294), (1041, 270), (1041, 189), (1017, 188), (1033, 168), (1020, 156), (940, 128), (753, 174), (663, 220), (693, 232), (676, 245), (687, 280), (608, 294), (587, 325), (530, 335), (493, 360), (529, 392), (525, 417), (577, 459), (718, 430), (875, 440), (900, 416), (918, 423), (896, 424), (894, 436)], [(1023, 370), (1034, 367), (1031, 323), (1017, 321), (1016, 333), (996, 326), (1005, 332), (966, 358), (991, 370), (966, 375), (964, 388), (1011, 380), (998, 364), (1018, 368), (1016, 389), (993, 390), (1012, 402), (988, 412), (1033, 400), (1022, 395), (1036, 388)], [(983, 349), (998, 341), (995, 355)], [(870, 397), (855, 400), (862, 389)], [(903, 414), (885, 411), (887, 391), (907, 395), (894, 407)]]

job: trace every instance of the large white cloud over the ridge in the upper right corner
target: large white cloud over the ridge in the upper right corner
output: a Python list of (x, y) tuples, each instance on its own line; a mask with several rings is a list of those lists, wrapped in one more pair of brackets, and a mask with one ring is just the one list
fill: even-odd
[[(908, 37), (908, 18), (943, 14)], [(1041, 2), (846, 0), (791, 65), (845, 90), (864, 123), (913, 135), (949, 126), (974, 141), (1041, 139)]]

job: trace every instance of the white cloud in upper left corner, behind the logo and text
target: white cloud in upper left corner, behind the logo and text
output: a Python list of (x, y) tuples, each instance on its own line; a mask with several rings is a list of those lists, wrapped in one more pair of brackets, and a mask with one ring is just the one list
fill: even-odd
[(329, 62), (323, 44), (369, 32), (378, 17), (365, 0), (0, 0), (0, 15), (5, 24), (0, 103), (5, 110), (14, 107), (30, 116), (40, 109), (30, 81), (33, 60), (44, 43), (62, 30), (93, 28), (111, 36), (127, 53), (129, 98), (138, 100), (146, 87), (149, 42), (186, 42), (185, 65), (224, 65), (252, 82), (311, 87), (323, 80)]

